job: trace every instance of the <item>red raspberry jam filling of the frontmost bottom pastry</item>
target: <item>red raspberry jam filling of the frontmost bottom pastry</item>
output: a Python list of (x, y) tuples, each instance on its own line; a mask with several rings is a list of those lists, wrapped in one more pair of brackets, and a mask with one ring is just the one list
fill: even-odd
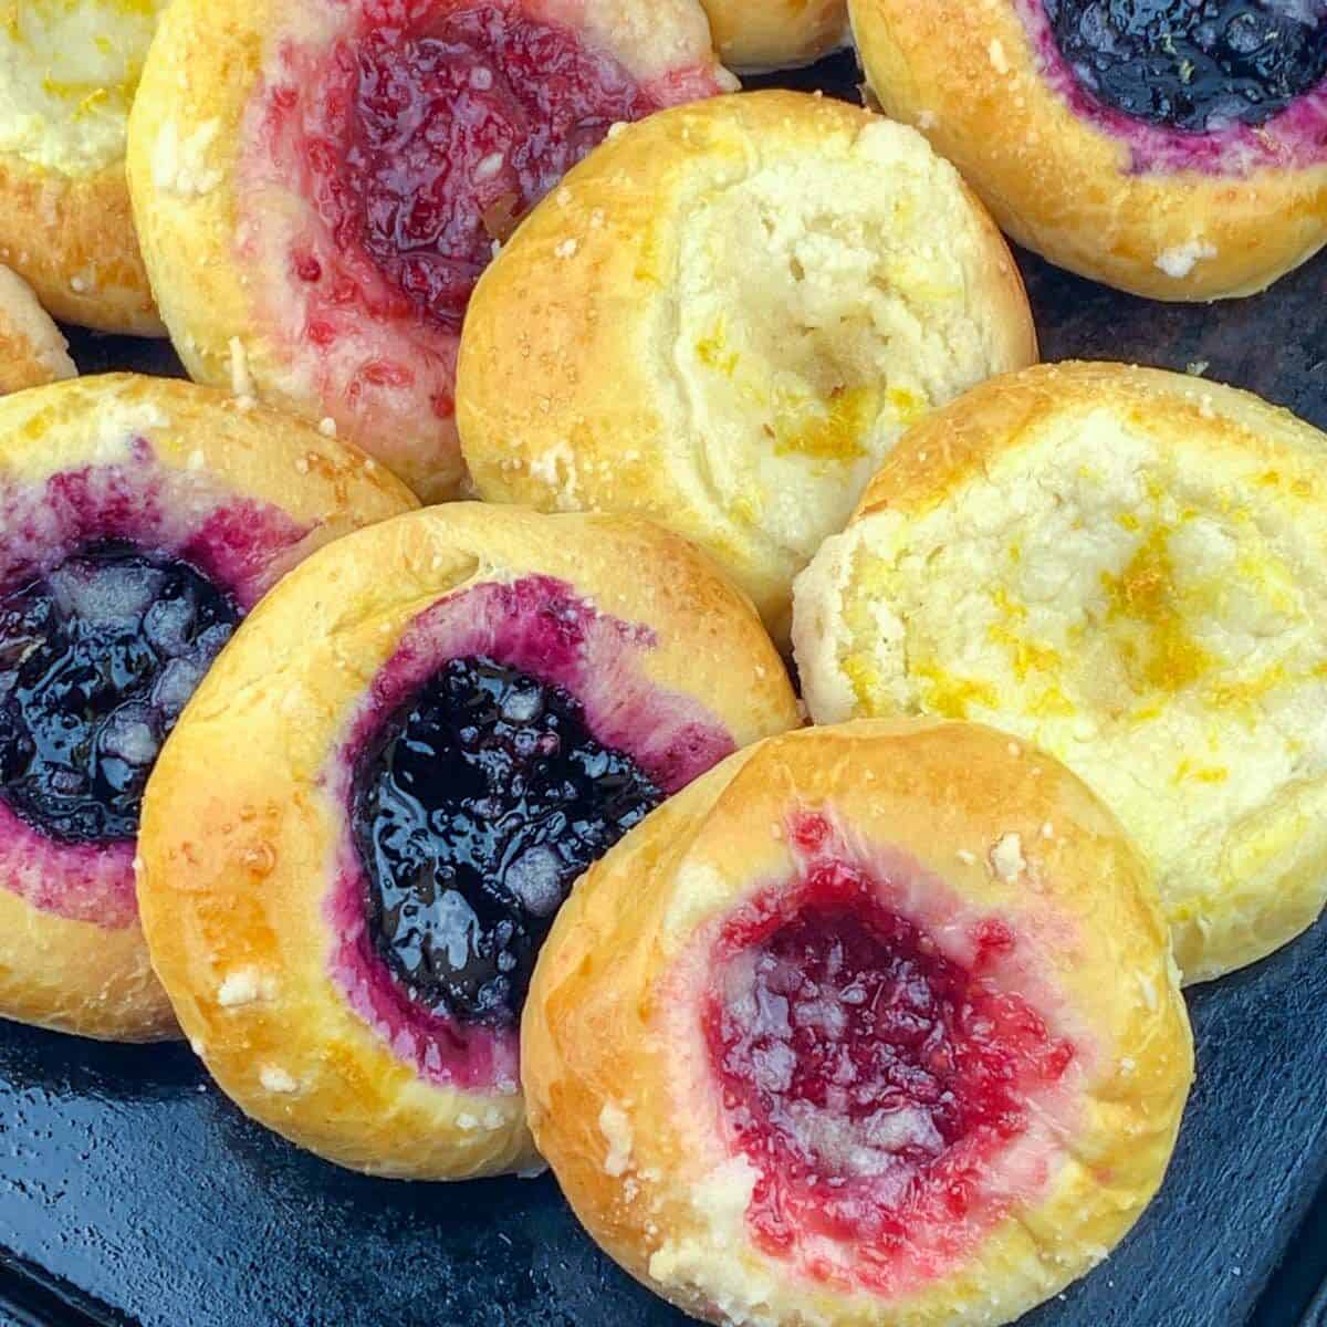
[(703, 1024), (767, 1251), (852, 1242), (888, 1285), (909, 1241), (957, 1245), (998, 1213), (990, 1170), (1075, 1055), (995, 979), (1015, 947), (987, 920), (946, 957), (832, 860), (730, 920)]

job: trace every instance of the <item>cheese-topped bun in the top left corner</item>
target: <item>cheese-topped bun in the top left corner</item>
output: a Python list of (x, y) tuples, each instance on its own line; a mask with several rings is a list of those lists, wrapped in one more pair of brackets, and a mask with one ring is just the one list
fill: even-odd
[(167, 0), (0, 7), (0, 263), (66, 322), (161, 336), (125, 186), (125, 123)]

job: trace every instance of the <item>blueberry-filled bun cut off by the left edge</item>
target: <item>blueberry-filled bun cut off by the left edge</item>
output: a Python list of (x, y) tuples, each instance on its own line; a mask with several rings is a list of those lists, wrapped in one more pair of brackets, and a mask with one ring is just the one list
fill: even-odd
[(410, 506), (349, 449), (188, 384), (0, 399), (0, 1016), (176, 1035), (134, 902), (157, 750), (287, 568)]

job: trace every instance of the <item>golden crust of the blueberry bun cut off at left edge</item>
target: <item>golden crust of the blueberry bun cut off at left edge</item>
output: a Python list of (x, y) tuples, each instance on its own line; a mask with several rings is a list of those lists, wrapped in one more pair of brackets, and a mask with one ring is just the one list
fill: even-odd
[[(206, 475), (236, 498), (269, 503), (311, 527), (291, 561), (414, 499), (382, 467), (316, 430), (222, 393), (131, 374), (81, 378), (0, 399), (7, 484), (119, 459), (149, 439), (163, 471)], [(178, 1030), (153, 977), (137, 921), (102, 926), (35, 906), (0, 888), (0, 1015), (109, 1040), (159, 1040)]]

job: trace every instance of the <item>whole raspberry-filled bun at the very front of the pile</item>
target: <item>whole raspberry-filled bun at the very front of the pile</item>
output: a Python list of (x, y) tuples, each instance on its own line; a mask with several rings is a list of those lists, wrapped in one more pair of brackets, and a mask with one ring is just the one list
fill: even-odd
[(1013, 1320), (1143, 1212), (1193, 1071), (1120, 825), (954, 723), (774, 738), (656, 812), (553, 924), (522, 1058), (594, 1239), (762, 1327)]

